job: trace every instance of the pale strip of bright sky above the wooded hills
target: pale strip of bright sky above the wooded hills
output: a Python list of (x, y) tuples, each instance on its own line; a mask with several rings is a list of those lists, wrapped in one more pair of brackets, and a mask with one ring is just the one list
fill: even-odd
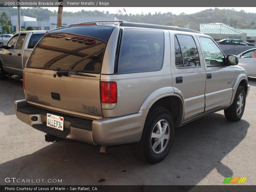
[[(48, 8), (51, 11), (58, 11), (58, 7), (44, 7)], [(219, 9), (232, 9), (234, 8), (236, 11), (240, 11), (241, 9), (245, 12), (256, 13), (255, 7), (217, 7)], [(192, 14), (196, 12), (203, 11), (205, 9), (215, 9), (215, 7), (63, 7), (63, 11), (68, 12), (77, 12), (84, 9), (85, 11), (108, 11), (109, 13), (117, 13), (117, 9), (123, 11), (126, 10), (127, 14), (146, 14), (150, 12), (151, 14), (155, 14), (155, 12), (167, 13), (172, 12), (172, 14), (179, 15), (180, 13), (184, 12), (186, 14)]]

